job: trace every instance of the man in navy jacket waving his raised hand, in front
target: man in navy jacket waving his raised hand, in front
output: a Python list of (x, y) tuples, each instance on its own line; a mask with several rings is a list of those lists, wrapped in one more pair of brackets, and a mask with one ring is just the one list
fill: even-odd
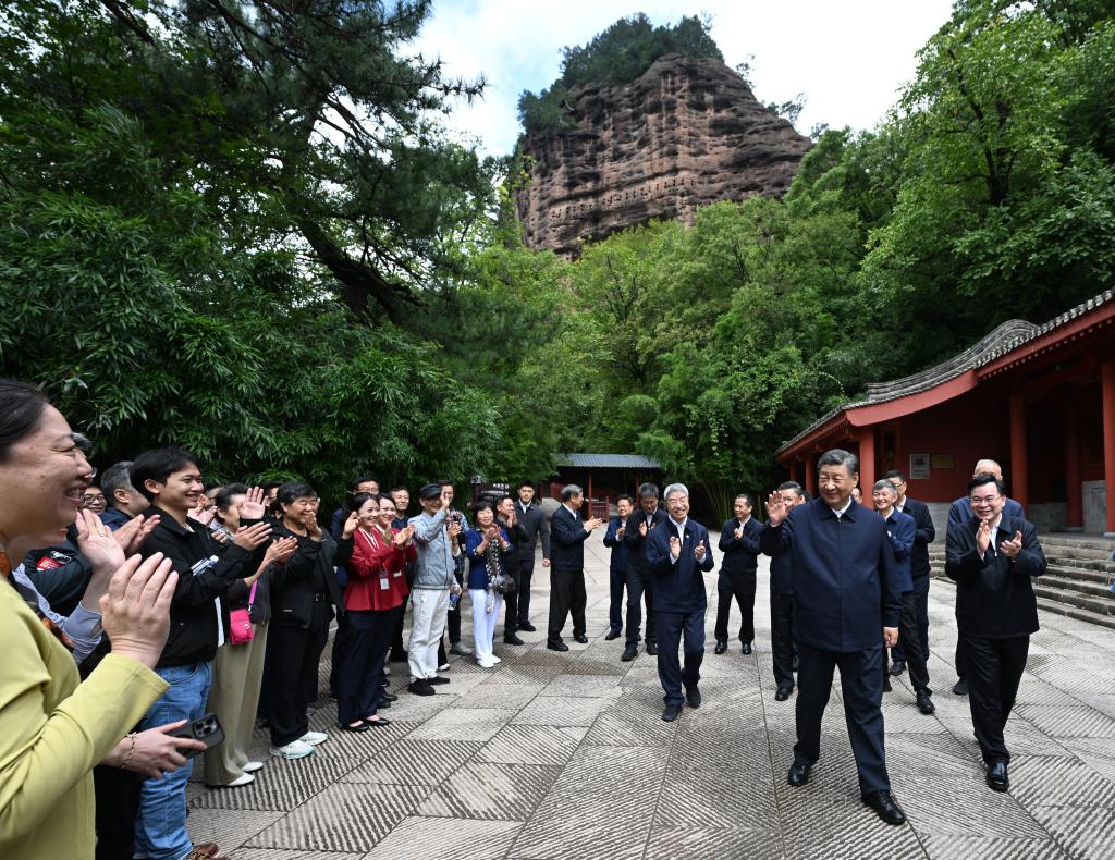
[(863, 802), (888, 824), (905, 814), (891, 796), (883, 748), (883, 645), (899, 638), (902, 597), (886, 523), (856, 504), (860, 480), (854, 454), (834, 448), (817, 461), (820, 499), (791, 509), (778, 493), (767, 502), (769, 520), (759, 547), (791, 553), (797, 673), (797, 743), (786, 776), (808, 782), (821, 755), (821, 718), (840, 667), (844, 716), (860, 775)]

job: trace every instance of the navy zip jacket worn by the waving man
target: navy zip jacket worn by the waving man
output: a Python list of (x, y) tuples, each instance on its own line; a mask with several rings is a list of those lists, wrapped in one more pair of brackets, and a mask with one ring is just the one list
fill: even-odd
[(881, 647), (884, 627), (902, 611), (894, 551), (886, 523), (852, 502), (840, 519), (821, 499), (791, 509), (778, 526), (763, 526), (759, 548), (789, 553), (794, 636), (830, 651)]

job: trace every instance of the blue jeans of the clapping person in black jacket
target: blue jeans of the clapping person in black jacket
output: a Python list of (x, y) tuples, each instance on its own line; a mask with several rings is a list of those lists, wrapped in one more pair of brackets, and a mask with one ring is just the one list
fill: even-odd
[[(139, 723), (140, 729), (173, 723), (176, 719), (194, 721), (205, 714), (213, 675), (207, 663), (192, 666), (169, 666), (155, 669), (171, 688), (151, 706)], [(186, 834), (186, 783), (193, 771), (193, 761), (162, 780), (145, 780), (139, 794), (139, 815), (136, 818), (135, 857), (149, 860), (182, 860), (193, 849)]]

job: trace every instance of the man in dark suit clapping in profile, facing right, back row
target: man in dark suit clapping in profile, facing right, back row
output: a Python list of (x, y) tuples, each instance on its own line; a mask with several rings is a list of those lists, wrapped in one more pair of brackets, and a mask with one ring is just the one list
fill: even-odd
[(576, 484), (566, 484), (561, 491), (561, 508), (550, 518), (550, 629), (546, 648), (568, 651), (561, 631), (565, 619), (573, 615), (573, 638), (586, 644), (584, 635), (584, 607), (588, 593), (584, 590), (584, 540), (603, 521), (593, 516), (581, 520), (584, 493)]

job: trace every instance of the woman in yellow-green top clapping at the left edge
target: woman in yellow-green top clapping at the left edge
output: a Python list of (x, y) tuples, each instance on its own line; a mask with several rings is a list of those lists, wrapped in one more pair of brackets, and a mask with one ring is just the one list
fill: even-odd
[[(9, 560), (49, 545), (75, 521), (93, 468), (61, 414), (36, 388), (0, 379), (0, 857), (93, 860), (91, 769), (147, 773), (174, 766), (173, 751), (127, 735), (163, 694), (151, 667), (166, 641), (177, 577), (159, 557), (125, 561), (88, 519), (94, 587), (113, 653), (79, 682), (68, 637), (28, 603)], [(115, 570), (110, 574), (107, 571)], [(98, 599), (99, 597), (99, 599)], [(168, 743), (168, 742), (167, 742)]]

